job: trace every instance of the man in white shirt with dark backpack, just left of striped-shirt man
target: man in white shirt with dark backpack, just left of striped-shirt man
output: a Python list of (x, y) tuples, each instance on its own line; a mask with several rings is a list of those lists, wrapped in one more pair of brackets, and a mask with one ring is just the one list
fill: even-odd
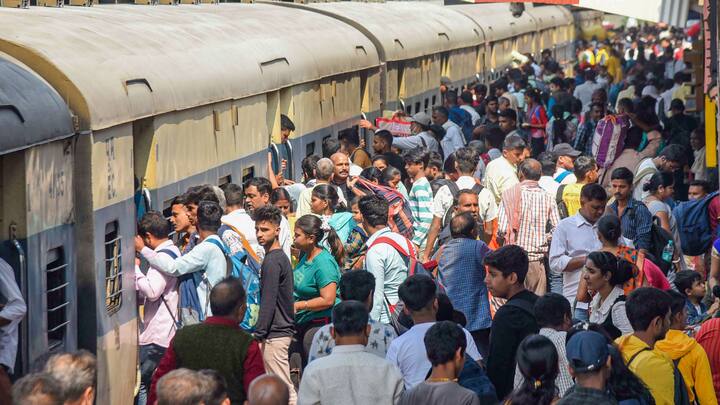
[[(483, 222), (486, 234), (491, 235), (493, 228), (492, 221), (497, 218), (497, 203), (487, 187), (482, 187), (473, 177), (479, 156), (470, 148), (461, 148), (455, 152), (454, 159), (455, 173), (450, 174), (450, 177), (452, 180), (455, 180), (458, 192), (464, 189), (480, 189), (478, 192), (479, 220)], [(435, 193), (432, 205), (433, 220), (432, 223), (430, 223), (430, 230), (428, 231), (427, 247), (423, 253), (423, 262), (429, 261), (433, 252), (433, 246), (442, 228), (443, 218), (453, 206), (456, 197), (457, 192), (453, 193), (453, 190), (447, 185), (440, 187)]]

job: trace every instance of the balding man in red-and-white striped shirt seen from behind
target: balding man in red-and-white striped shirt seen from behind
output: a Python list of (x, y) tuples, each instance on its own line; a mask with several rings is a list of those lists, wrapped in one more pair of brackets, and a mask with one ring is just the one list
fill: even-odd
[(540, 162), (525, 159), (520, 164), (522, 181), (503, 193), (498, 213), (498, 235), (506, 245), (518, 245), (528, 253), (525, 287), (540, 296), (547, 292), (550, 232), (560, 222), (555, 200), (538, 185), (541, 176)]

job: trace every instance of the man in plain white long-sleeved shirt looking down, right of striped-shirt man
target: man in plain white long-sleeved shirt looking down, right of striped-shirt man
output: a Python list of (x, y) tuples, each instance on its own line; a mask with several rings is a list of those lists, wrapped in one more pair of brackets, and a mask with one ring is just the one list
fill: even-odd
[[(585, 259), (591, 252), (602, 247), (598, 239), (597, 221), (605, 212), (607, 193), (601, 185), (586, 184), (580, 192), (580, 209), (578, 213), (560, 221), (555, 228), (550, 244), (550, 288), (552, 292), (562, 293), (575, 304), (582, 268)], [(557, 277), (562, 275), (562, 284), (558, 285)], [(588, 304), (578, 302), (574, 317), (588, 320)]]

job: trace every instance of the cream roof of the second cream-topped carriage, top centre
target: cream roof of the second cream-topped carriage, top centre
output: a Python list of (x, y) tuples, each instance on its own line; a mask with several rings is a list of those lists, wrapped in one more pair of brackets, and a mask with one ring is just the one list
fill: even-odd
[(367, 29), (382, 44), (385, 60), (396, 61), (484, 43), (482, 30), (451, 8), (429, 2), (313, 3)]

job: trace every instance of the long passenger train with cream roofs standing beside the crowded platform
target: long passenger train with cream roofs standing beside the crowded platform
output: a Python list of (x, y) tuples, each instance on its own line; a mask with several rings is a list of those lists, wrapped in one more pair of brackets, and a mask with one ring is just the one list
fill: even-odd
[(136, 197), (166, 210), (190, 185), (265, 175), (281, 114), (299, 167), (361, 117), (439, 104), (442, 77), (488, 83), (512, 51), (575, 57), (561, 6), (188, 2), (0, 7), (0, 257), (28, 304), (16, 376), (88, 349), (99, 404), (136, 387)]

